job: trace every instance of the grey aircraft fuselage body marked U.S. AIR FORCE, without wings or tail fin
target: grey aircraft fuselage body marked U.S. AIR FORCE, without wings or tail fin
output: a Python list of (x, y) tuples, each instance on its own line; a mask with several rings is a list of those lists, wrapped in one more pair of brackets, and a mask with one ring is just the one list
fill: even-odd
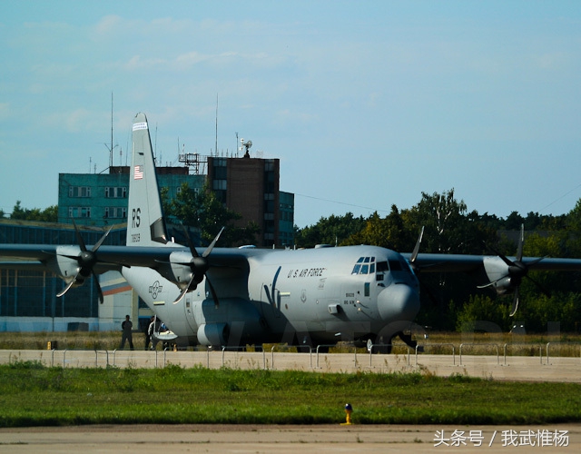
[(382, 331), (390, 339), (390, 324), (413, 321), (419, 311), (418, 280), (397, 252), (350, 246), (244, 253), (247, 270), (208, 271), (218, 306), (205, 280), (173, 303), (178, 287), (156, 271), (125, 268), (123, 275), (173, 332), (203, 345), (314, 346), (375, 341)]

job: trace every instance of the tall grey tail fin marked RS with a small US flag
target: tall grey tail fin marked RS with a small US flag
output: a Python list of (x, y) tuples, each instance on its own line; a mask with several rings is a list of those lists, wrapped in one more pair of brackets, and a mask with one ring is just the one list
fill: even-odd
[(147, 117), (141, 113), (133, 119), (133, 159), (129, 171), (128, 205), (128, 246), (154, 246), (168, 242), (149, 126)]

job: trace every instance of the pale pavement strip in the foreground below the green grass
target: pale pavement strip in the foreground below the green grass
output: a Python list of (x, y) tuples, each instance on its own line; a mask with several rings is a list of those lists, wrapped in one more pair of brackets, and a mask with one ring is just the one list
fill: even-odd
[[(512, 430), (512, 432), (511, 432)], [(539, 437), (545, 430), (546, 437)], [(456, 431), (456, 432), (455, 432)], [(558, 436), (555, 438), (555, 433)], [(565, 433), (566, 432), (566, 433)], [(456, 433), (456, 436), (453, 434)], [(484, 452), (540, 449), (579, 452), (581, 425), (502, 426), (84, 426), (0, 429), (0, 452), (90, 453), (375, 453)], [(539, 446), (540, 440), (543, 446)], [(458, 445), (456, 445), (456, 443)], [(533, 444), (535, 443), (535, 444)], [(560, 445), (560, 446), (559, 446)]]

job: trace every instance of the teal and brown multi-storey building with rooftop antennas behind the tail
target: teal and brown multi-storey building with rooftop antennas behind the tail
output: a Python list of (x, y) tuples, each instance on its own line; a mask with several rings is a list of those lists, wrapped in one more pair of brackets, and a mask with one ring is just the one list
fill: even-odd
[[(278, 159), (201, 157), (182, 154), (182, 167), (157, 167), (160, 188), (169, 199), (188, 183), (200, 191), (206, 181), (226, 207), (241, 214), (240, 227), (256, 222), (258, 247), (293, 245), (294, 194), (279, 188)], [(207, 165), (208, 174), (200, 169)], [(193, 174), (191, 173), (193, 169)], [(60, 173), (58, 222), (104, 227), (127, 220), (129, 166), (112, 166), (109, 173)]]

